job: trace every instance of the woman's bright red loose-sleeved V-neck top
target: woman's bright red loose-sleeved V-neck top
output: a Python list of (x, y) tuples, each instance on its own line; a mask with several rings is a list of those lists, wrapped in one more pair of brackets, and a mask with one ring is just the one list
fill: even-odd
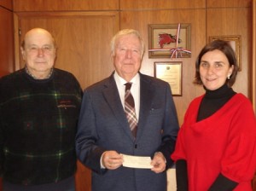
[(208, 190), (219, 173), (252, 190), (256, 170), (256, 119), (251, 102), (236, 94), (207, 119), (196, 122), (203, 96), (189, 105), (172, 159), (185, 159), (189, 191)]

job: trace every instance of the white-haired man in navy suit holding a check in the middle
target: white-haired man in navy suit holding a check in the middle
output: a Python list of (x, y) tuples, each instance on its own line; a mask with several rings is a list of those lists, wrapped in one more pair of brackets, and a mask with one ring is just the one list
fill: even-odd
[[(84, 90), (76, 136), (79, 160), (92, 170), (92, 191), (166, 191), (179, 129), (170, 85), (139, 72), (144, 43), (136, 30), (119, 31), (111, 50), (115, 71)], [(136, 136), (124, 110), (127, 82), (132, 83)], [(152, 167), (127, 167), (124, 155), (151, 157)]]

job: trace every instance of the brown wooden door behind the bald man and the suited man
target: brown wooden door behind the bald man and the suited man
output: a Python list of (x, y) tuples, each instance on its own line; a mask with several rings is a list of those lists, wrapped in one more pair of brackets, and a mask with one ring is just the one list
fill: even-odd
[[(34, 27), (51, 32), (57, 44), (55, 67), (72, 72), (83, 89), (113, 72), (109, 43), (119, 30), (117, 12), (26, 13), (17, 14), (16, 23), (16, 31), (20, 32), (15, 47), (20, 47), (25, 33)], [(24, 67), (17, 49), (15, 66), (16, 70)], [(76, 187), (77, 191), (90, 190), (90, 170), (79, 161)]]

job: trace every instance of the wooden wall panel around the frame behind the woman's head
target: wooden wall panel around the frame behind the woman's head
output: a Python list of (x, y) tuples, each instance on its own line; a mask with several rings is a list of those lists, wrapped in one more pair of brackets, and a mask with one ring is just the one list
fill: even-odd
[[(212, 19), (214, 18), (214, 20)], [(252, 67), (251, 8), (207, 9), (207, 37), (241, 35), (241, 72), (238, 72), (234, 90), (249, 95)]]

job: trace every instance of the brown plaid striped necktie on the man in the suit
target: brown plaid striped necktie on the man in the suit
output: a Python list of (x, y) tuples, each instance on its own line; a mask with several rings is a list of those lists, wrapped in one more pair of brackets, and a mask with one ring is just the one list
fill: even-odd
[(125, 114), (130, 124), (131, 133), (135, 137), (137, 133), (137, 117), (135, 113), (135, 104), (131, 95), (131, 83), (125, 84)]

